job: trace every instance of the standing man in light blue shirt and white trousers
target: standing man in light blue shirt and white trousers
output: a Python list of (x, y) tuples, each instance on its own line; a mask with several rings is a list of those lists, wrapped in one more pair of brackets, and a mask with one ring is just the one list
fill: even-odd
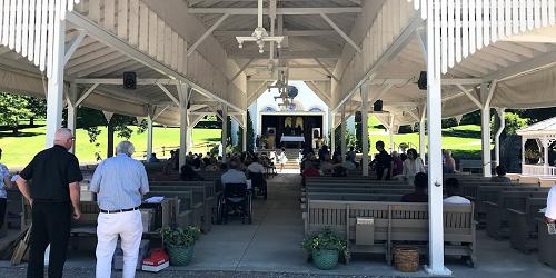
[(102, 161), (95, 170), (90, 190), (97, 192), (100, 208), (97, 226), (97, 278), (109, 278), (118, 236), (123, 250), (123, 278), (136, 275), (142, 221), (139, 206), (149, 192), (145, 166), (132, 159), (129, 141), (116, 146), (116, 157)]

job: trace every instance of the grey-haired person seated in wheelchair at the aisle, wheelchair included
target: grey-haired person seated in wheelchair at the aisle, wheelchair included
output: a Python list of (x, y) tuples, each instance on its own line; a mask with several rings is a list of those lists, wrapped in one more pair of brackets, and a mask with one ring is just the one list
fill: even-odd
[(221, 177), (224, 186), (224, 221), (228, 222), (230, 212), (239, 212), (241, 221), (251, 224), (251, 195), (245, 172), (238, 170), (239, 161), (232, 158), (229, 170)]

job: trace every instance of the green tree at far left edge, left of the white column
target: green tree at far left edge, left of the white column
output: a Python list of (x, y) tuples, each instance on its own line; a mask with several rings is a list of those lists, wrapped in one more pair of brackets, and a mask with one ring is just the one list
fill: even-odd
[(33, 113), (28, 108), (29, 101), (21, 96), (0, 93), (0, 125), (8, 126), (18, 133), (19, 122)]

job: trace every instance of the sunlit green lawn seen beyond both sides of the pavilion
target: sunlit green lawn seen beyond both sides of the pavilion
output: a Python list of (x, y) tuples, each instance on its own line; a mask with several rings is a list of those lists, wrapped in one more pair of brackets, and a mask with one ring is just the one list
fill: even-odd
[[(40, 122), (39, 122), (40, 123)], [(377, 140), (383, 140), (386, 143), (386, 148), (389, 148), (389, 138), (386, 132), (380, 132), (380, 129), (374, 128), (374, 126), (379, 125), (374, 117), (370, 120), (370, 142), (371, 142), (371, 153), (375, 152), (374, 145)], [(131, 127), (135, 131), (136, 127)], [(34, 127), (20, 129), (18, 136), (12, 135), (11, 131), (0, 131), (0, 148), (3, 150), (2, 162), (8, 167), (17, 168), (26, 166), (32, 157), (43, 149), (44, 147), (44, 131), (46, 128)], [(207, 152), (210, 149), (210, 145), (218, 145), (220, 141), (220, 130), (219, 129), (193, 129), (193, 152)], [(95, 153), (99, 152), (102, 158), (106, 157), (107, 149), (107, 132), (106, 127), (101, 128), (101, 133), (98, 137), (99, 146), (89, 142), (89, 136), (87, 131), (78, 129), (77, 131), (77, 142), (76, 142), (76, 155), (81, 163), (93, 162)], [(115, 142), (121, 141), (121, 138), (115, 138)], [(136, 146), (137, 158), (143, 158), (145, 151), (147, 149), (147, 133), (133, 132), (131, 142)], [(419, 146), (419, 135), (407, 133), (407, 135), (395, 135), (394, 141), (396, 145), (400, 142), (407, 142), (411, 148), (418, 149)], [(165, 128), (155, 127), (153, 133), (153, 151), (159, 157), (169, 156), (169, 150), (172, 148), (178, 148), (179, 146), (179, 129), (178, 128)], [(450, 129), (444, 130), (443, 146), (445, 149), (450, 149), (454, 151), (454, 157), (456, 159), (461, 158), (480, 158), (480, 127), (478, 126), (459, 126)], [(162, 153), (162, 147), (165, 147), (165, 152)]]

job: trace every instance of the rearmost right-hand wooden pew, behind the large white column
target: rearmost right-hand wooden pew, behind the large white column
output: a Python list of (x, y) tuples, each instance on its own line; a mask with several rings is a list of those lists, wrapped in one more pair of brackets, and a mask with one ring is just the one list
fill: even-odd
[[(384, 254), (388, 264), (396, 244), (428, 251), (427, 203), (309, 199), (304, 219), (306, 235), (328, 227), (348, 239), (351, 252)], [(465, 256), (475, 262), (473, 205), (445, 205), (444, 234), (445, 255)]]

